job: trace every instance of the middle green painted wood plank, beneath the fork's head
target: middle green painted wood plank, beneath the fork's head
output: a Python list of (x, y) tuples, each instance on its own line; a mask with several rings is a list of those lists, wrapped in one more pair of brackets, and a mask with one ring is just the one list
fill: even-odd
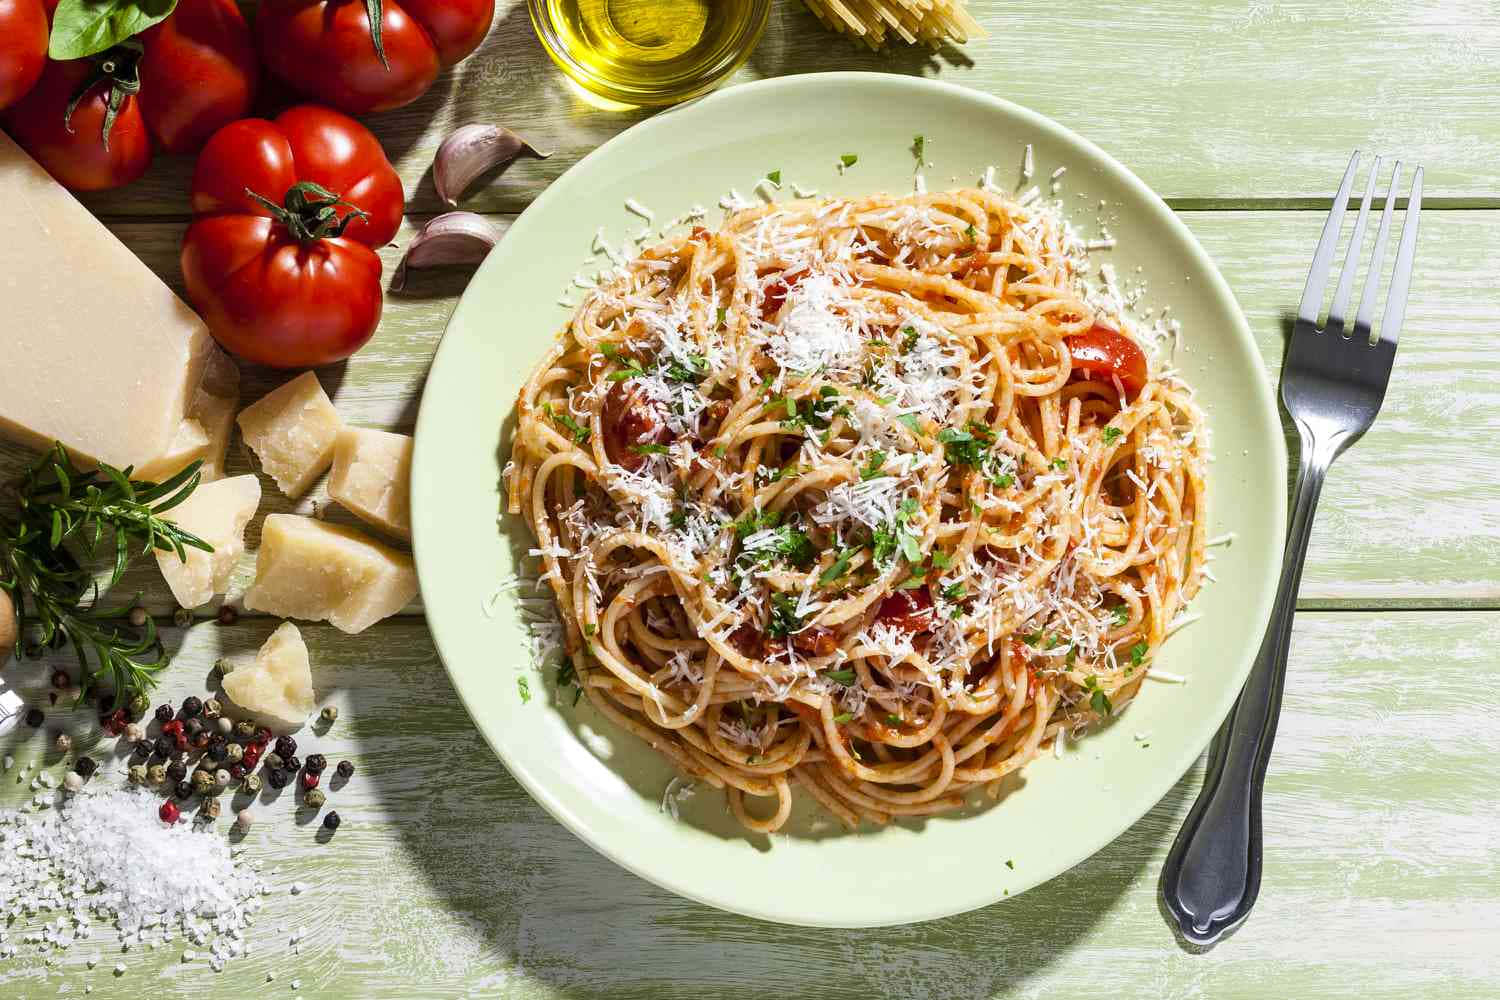
[[(1322, 219), (1312, 213), (1192, 213), (1185, 220), (1218, 259), (1250, 315), (1275, 378), (1284, 316), (1299, 295)], [(420, 219), (416, 222), (420, 223)], [(496, 216), (504, 228), (507, 217)], [(387, 274), (411, 238), (408, 220), (382, 256)], [(117, 223), (114, 229), (177, 285), (182, 223)], [(1474, 307), (1474, 288), (1492, 283), (1500, 213), (1430, 211), (1412, 307), (1384, 411), (1374, 430), (1334, 466), (1314, 529), (1302, 601), (1308, 607), (1500, 604), (1500, 319)], [(418, 273), (411, 294), (388, 295), (375, 339), (348, 363), (320, 372), (345, 420), (410, 432), (432, 351), (462, 289), (462, 270)], [(558, 289), (560, 291), (560, 289)], [(543, 289), (555, 294), (555, 289)], [(1170, 286), (1160, 289), (1170, 303)], [(496, 336), (501, 336), (496, 319)], [(1186, 333), (1191, 345), (1191, 331)], [(278, 385), (282, 373), (244, 369), (243, 402)], [(1212, 400), (1206, 400), (1212, 411)], [(9, 477), (24, 454), (0, 450)], [(249, 472), (238, 439), (232, 472)], [(262, 513), (324, 510), (350, 520), (316, 487), (300, 502), (266, 480)], [(350, 522), (352, 523), (352, 522)], [(250, 549), (258, 525), (250, 528)], [(236, 576), (254, 576), (248, 556)], [(144, 591), (171, 610), (154, 568), (132, 573), (123, 592)]]

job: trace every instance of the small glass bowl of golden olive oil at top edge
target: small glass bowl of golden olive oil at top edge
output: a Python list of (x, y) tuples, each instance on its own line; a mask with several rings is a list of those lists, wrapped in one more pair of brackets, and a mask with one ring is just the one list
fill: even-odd
[(620, 105), (672, 105), (744, 64), (771, 0), (528, 0), (537, 37), (564, 73)]

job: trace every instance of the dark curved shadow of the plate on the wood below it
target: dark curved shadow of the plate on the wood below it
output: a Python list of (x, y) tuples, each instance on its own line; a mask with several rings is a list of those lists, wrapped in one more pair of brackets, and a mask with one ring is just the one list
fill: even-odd
[[(459, 928), (446, 948), (471, 955), (452, 981), (429, 979), (423, 996), (498, 996), (522, 975), (560, 996), (652, 1000), (1023, 991), (1128, 906), (1196, 787), (1179, 781), (1119, 840), (1016, 900), (914, 927), (780, 927), (682, 900), (573, 837), (495, 766), (417, 619), (404, 642), (430, 663), (404, 669), (396, 690), (356, 685), (350, 696), (352, 720), (393, 711), (423, 720), (423, 760), (410, 759), (410, 741), (382, 760), (378, 733), (360, 735), (364, 780), (400, 817), (411, 867)], [(996, 864), (976, 858), (975, 877)]]

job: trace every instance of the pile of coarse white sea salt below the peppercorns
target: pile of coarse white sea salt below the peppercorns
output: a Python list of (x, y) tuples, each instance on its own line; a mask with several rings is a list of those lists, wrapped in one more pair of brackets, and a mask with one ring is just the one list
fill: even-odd
[(144, 792), (112, 789), (76, 795), (56, 813), (0, 811), (0, 960), (30, 945), (62, 951), (100, 924), (122, 951), (180, 936), (206, 948), (214, 970), (243, 955), (264, 883), (222, 835), (168, 826), (158, 807)]

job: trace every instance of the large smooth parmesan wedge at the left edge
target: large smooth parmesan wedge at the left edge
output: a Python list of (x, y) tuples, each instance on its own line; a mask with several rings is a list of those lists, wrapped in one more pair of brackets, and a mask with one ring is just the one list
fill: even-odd
[(0, 205), (0, 435), (146, 468), (176, 447), (207, 327), (4, 135)]

